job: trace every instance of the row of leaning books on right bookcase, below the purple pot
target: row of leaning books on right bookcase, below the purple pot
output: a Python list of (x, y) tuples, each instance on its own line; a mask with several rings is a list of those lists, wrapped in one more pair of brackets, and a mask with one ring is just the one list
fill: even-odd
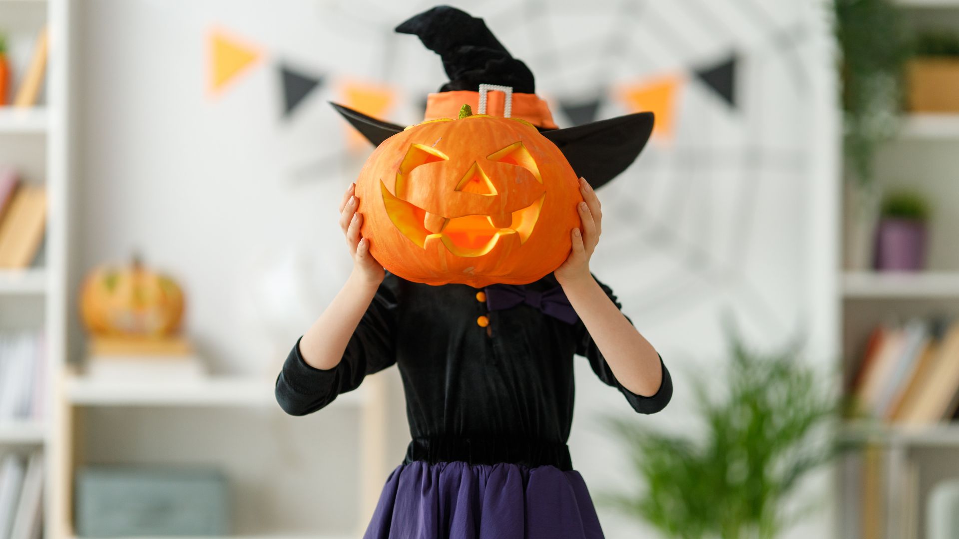
[(878, 326), (851, 391), (859, 412), (888, 423), (950, 420), (959, 408), (959, 322)]

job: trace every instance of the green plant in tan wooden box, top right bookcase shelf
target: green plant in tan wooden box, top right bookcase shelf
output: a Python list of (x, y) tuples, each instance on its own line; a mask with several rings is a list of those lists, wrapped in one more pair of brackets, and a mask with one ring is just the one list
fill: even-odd
[(959, 34), (935, 30), (916, 38), (907, 64), (908, 106), (913, 112), (959, 112)]

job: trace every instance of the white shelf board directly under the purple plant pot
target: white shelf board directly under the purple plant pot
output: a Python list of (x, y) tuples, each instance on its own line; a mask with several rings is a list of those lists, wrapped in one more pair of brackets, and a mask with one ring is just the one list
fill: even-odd
[(852, 298), (959, 298), (959, 272), (850, 271), (843, 274), (842, 290)]

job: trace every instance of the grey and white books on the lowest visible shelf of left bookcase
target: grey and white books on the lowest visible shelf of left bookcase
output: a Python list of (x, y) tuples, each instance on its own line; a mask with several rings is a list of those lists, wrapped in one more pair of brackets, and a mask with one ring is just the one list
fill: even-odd
[(42, 536), (43, 454), (0, 457), (0, 539)]

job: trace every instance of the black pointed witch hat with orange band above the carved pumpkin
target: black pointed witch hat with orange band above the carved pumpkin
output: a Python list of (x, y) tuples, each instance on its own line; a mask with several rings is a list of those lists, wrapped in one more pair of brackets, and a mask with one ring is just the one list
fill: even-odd
[[(513, 116), (536, 126), (563, 152), (573, 171), (585, 177), (594, 188), (626, 170), (649, 140), (653, 129), (652, 112), (637, 112), (574, 128), (556, 129), (546, 103), (534, 94), (535, 82), (529, 68), (509, 54), (481, 18), (449, 6), (437, 6), (413, 16), (396, 27), (396, 32), (418, 35), (427, 48), (443, 59), (450, 82), (440, 87), (440, 94), (431, 94), (431, 98), (442, 97), (442, 92), (479, 94), (480, 84), (509, 87), (511, 94), (504, 99), (511, 95), (514, 112), (522, 108), (516, 105), (517, 98), (528, 105), (526, 110), (537, 112), (533, 116), (525, 117), (522, 112)], [(473, 99), (477, 98), (474, 96)], [(463, 100), (431, 99), (428, 101), (428, 118), (431, 116), (431, 102), (456, 103), (456, 106), (465, 103)], [(484, 102), (485, 99), (481, 101)], [(404, 129), (348, 106), (331, 105), (374, 146)], [(456, 117), (455, 110), (442, 111), (440, 105), (435, 108), (433, 117)]]

